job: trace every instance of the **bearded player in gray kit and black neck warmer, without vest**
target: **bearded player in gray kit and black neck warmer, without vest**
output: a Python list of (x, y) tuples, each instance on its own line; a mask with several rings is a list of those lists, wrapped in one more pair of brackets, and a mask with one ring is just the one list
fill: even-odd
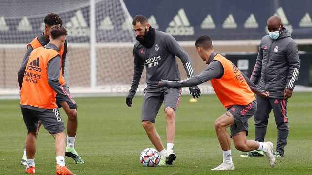
[[(147, 87), (144, 90), (141, 121), (143, 128), (152, 144), (159, 151), (161, 165), (171, 165), (176, 159), (174, 153), (174, 138), (176, 133), (176, 109), (179, 105), (181, 88), (158, 87), (161, 79), (180, 80), (180, 73), (176, 63), (176, 56), (183, 62), (187, 76), (193, 76), (191, 58), (176, 42), (175, 38), (164, 32), (155, 30), (143, 15), (137, 15), (132, 20), (133, 30), (137, 35), (137, 42), (133, 47), (134, 72), (131, 89), (126, 97), (126, 104), (131, 107), (142, 75), (146, 70)], [(193, 97), (200, 96), (197, 86), (190, 88)], [(167, 150), (155, 128), (155, 118), (165, 103)]]

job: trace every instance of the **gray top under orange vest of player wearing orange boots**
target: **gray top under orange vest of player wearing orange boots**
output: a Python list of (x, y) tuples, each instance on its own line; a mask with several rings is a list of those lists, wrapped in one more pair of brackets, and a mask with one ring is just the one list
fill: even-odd
[[(48, 43), (47, 45), (43, 46), (44, 48), (47, 49), (54, 49), (54, 50), (58, 50), (58, 48), (51, 43)], [(25, 73), (25, 69), (27, 67), (27, 62), (29, 60), (29, 55), (26, 60), (23, 60), (21, 66), (20, 66), (20, 70), (18, 72), (18, 80), (19, 80), (19, 85), (20, 88), (22, 87), (22, 83), (23, 83), (23, 77), (24, 77), (24, 73)], [(67, 99), (69, 98), (67, 95), (64, 94), (63, 90), (60, 88), (61, 85), (59, 83), (59, 75), (60, 75), (60, 65), (61, 64), (61, 58), (59, 55), (57, 55), (56, 57), (52, 58), (48, 65), (47, 65), (47, 75), (48, 75), (48, 83), (51, 86), (51, 88), (57, 93), (57, 95), (59, 97), (62, 97), (63, 99)], [(68, 103), (68, 105), (70, 106), (70, 108), (75, 108), (75, 106), (77, 106), (76, 104), (71, 103), (70, 100), (66, 100), (66, 102)], [(20, 105), (20, 107), (22, 108), (27, 108), (27, 109), (32, 109), (32, 110), (37, 110), (40, 112), (45, 111), (46, 109), (42, 109), (42, 108), (38, 108), (38, 107), (33, 107), (30, 105)], [(77, 107), (76, 107), (77, 108)]]

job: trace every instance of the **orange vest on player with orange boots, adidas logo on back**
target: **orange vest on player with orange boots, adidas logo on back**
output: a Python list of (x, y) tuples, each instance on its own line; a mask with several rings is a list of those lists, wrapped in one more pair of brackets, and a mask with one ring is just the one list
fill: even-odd
[(55, 91), (48, 84), (48, 62), (59, 55), (56, 50), (39, 47), (29, 55), (20, 93), (20, 104), (43, 109), (57, 107)]

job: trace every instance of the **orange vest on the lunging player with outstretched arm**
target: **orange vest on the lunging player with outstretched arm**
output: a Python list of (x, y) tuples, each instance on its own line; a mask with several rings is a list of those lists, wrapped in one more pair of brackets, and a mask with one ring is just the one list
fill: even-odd
[(224, 74), (221, 78), (213, 78), (211, 85), (225, 108), (233, 105), (248, 105), (255, 100), (254, 93), (249, 88), (244, 76), (228, 59), (217, 54), (213, 60), (219, 61)]

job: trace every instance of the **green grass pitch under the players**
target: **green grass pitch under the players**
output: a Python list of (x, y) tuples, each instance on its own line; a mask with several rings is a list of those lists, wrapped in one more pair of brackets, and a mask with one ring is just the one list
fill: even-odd
[[(312, 175), (312, 93), (294, 93), (288, 102), (290, 132), (285, 157), (271, 168), (266, 157), (239, 157), (232, 144), (234, 171), (211, 172), (222, 161), (215, 135), (215, 119), (225, 112), (215, 95), (204, 95), (197, 103), (182, 96), (176, 115), (175, 151), (171, 167), (143, 167), (140, 152), (153, 145), (141, 126), (142, 97), (133, 107), (123, 97), (76, 98), (78, 133), (75, 148), (85, 164), (66, 157), (66, 165), (78, 175)], [(18, 100), (0, 101), (0, 175), (23, 175), (20, 165), (26, 128)], [(64, 121), (66, 115), (61, 109)], [(66, 124), (66, 122), (65, 122)], [(254, 120), (249, 120), (248, 139), (254, 139)], [(156, 118), (156, 129), (164, 144), (163, 108)], [(270, 114), (266, 140), (276, 144), (277, 129)], [(54, 140), (42, 127), (38, 136), (36, 174), (55, 174)]]

